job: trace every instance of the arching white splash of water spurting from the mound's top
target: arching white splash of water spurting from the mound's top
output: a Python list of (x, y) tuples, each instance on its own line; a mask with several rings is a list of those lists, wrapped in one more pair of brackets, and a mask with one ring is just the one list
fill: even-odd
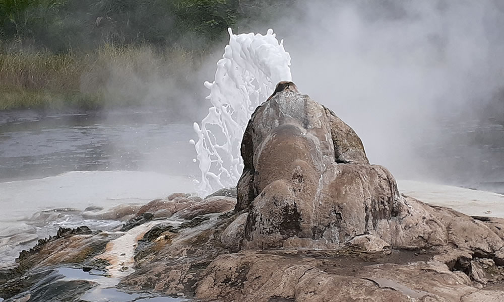
[(257, 106), (264, 102), (280, 81), (291, 81), (290, 55), (278, 42), (272, 29), (266, 35), (229, 31), (229, 45), (217, 62), (210, 89), (213, 107), (194, 123), (195, 145), (201, 180), (198, 192), (205, 195), (220, 188), (235, 186), (243, 170), (240, 145), (245, 127)]

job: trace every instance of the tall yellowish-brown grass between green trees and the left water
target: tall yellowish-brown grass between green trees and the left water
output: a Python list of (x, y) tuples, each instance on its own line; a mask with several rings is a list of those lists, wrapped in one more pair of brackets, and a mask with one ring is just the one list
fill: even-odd
[(105, 45), (90, 53), (64, 54), (3, 47), (0, 110), (145, 104), (156, 101), (153, 87), (162, 90), (165, 83), (176, 83), (181, 74), (195, 70), (202, 60), (201, 53), (150, 46)]

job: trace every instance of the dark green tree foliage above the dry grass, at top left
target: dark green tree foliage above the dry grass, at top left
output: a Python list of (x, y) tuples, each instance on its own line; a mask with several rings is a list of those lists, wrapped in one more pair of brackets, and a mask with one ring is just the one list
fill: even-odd
[(287, 1), (0, 0), (0, 39), (53, 52), (104, 43), (195, 48)]

